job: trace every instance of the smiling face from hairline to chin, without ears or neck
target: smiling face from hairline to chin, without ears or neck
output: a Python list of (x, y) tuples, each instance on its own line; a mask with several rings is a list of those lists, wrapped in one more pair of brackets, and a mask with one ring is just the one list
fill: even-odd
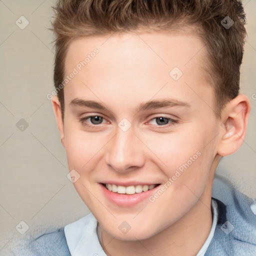
[(65, 75), (77, 73), (64, 87), (62, 141), (75, 189), (110, 235), (151, 237), (210, 198), (218, 131), (205, 56), (187, 34), (70, 44)]

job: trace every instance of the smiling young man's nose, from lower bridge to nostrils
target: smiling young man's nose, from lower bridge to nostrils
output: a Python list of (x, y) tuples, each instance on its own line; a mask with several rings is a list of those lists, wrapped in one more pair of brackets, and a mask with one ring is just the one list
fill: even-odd
[(107, 143), (105, 159), (108, 166), (115, 171), (126, 172), (143, 166), (145, 148), (132, 127), (126, 131), (117, 127), (116, 134)]

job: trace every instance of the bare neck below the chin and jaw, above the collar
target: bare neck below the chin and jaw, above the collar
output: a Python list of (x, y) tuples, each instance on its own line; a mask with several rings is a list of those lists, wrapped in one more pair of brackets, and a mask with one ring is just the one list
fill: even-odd
[(194, 256), (207, 239), (211, 225), (211, 186), (177, 222), (144, 240), (118, 240), (101, 226), (101, 245), (108, 256)]

